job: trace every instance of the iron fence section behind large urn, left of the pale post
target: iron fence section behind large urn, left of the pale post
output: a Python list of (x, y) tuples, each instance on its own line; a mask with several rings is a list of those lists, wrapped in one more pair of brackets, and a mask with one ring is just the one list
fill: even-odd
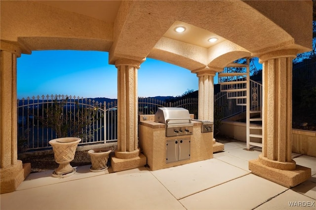
[[(107, 128), (104, 107), (106, 105), (98, 101), (64, 95), (17, 100), (18, 147), (20, 150), (50, 147), (48, 141), (57, 138), (57, 130), (78, 135), (80, 144), (104, 142)], [(54, 120), (59, 129), (48, 126), (51, 124), (48, 118)]]

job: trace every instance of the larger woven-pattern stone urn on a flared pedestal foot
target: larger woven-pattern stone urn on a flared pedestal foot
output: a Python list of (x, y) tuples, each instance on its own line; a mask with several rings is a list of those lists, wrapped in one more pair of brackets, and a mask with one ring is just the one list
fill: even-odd
[(53, 147), (55, 162), (59, 163), (52, 176), (68, 177), (76, 173), (76, 169), (70, 165), (70, 162), (75, 158), (76, 149), (80, 141), (80, 138), (66, 137), (48, 142)]

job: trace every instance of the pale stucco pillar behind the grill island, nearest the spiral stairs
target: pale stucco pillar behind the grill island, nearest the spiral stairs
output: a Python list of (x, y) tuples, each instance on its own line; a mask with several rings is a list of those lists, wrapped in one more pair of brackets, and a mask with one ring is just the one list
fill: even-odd
[[(195, 70), (198, 77), (198, 119), (214, 122), (214, 76), (216, 70), (209, 67)], [(214, 127), (213, 127), (214, 128)], [(212, 133), (213, 152), (223, 151), (224, 144), (216, 142)]]

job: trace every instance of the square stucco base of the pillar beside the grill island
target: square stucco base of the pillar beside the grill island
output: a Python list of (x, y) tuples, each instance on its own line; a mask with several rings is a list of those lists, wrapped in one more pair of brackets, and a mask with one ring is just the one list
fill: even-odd
[(147, 158), (142, 153), (139, 153), (137, 157), (129, 159), (121, 159), (117, 157), (111, 158), (111, 167), (114, 172), (125, 171), (129, 169), (136, 169), (145, 166)]

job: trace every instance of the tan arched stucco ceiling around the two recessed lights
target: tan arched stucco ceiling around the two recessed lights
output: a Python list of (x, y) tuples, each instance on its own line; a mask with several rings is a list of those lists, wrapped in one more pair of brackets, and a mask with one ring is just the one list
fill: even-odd
[[(216, 69), (278, 49), (308, 51), (312, 6), (311, 1), (4, 0), (0, 33), (1, 40), (19, 42), (23, 53), (100, 50), (109, 52), (111, 64), (150, 57), (190, 70)], [(176, 26), (186, 31), (176, 33)], [(211, 37), (218, 41), (208, 42)]]

